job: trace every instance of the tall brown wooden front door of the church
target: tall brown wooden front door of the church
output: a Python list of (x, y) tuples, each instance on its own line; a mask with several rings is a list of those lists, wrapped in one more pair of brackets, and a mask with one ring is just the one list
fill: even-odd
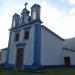
[(23, 48), (18, 48), (17, 49), (17, 57), (16, 57), (16, 68), (17, 69), (22, 69), (23, 65)]

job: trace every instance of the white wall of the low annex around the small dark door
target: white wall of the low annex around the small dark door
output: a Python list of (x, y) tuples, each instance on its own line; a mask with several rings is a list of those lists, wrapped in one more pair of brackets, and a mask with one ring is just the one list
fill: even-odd
[(75, 52), (64, 50), (64, 57), (70, 57), (71, 65), (75, 65)]

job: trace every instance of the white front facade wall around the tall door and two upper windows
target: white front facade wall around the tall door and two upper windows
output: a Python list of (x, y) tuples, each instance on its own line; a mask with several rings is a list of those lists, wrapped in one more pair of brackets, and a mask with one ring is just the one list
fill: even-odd
[[(29, 39), (24, 41), (24, 32), (28, 30), (29, 31)], [(9, 64), (15, 64), (16, 63), (16, 57), (17, 57), (17, 48), (23, 48), (23, 65), (31, 65), (33, 64), (33, 53), (34, 53), (34, 26), (32, 26), (30, 29), (21, 29), (19, 31), (19, 41), (15, 42), (15, 31), (11, 32), (11, 39), (10, 39), (10, 45), (9, 45), (9, 58), (8, 63)], [(17, 47), (17, 43), (24, 43), (24, 47)]]

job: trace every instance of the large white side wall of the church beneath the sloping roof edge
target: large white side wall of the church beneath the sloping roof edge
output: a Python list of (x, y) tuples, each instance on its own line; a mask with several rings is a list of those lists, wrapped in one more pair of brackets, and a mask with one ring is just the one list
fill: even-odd
[(63, 41), (41, 27), (41, 64), (63, 65)]

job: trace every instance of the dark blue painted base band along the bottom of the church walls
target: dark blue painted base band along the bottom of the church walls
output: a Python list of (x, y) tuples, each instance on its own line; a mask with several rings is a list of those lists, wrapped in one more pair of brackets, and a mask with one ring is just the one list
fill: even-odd
[[(40, 64), (32, 64), (32, 65), (24, 65), (22, 70), (41, 70), (41, 69), (52, 69), (52, 68), (64, 68), (64, 67), (72, 67), (75, 68), (75, 65), (65, 66), (65, 65), (40, 65)], [(5, 69), (14, 70), (15, 64), (5, 64)]]

